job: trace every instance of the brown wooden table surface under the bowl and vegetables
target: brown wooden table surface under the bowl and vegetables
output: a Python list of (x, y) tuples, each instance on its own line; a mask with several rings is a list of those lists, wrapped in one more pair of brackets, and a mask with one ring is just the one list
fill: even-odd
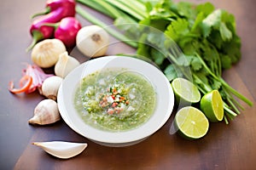
[[(197, 3), (204, 0), (195, 1)], [(241, 37), (241, 61), (224, 79), (247, 96), (256, 100), (256, 3), (254, 0), (212, 0), (218, 8), (235, 14), (237, 33)], [(38, 93), (10, 94), (10, 80), (19, 81), (22, 63), (32, 63), (25, 49), (32, 41), (30, 16), (44, 9), (45, 0), (3, 0), (0, 6), (0, 169), (255, 169), (256, 168), (256, 109), (245, 106), (240, 116), (225, 125), (211, 123), (203, 139), (188, 141), (169, 134), (175, 112), (165, 126), (140, 144), (124, 148), (106, 147), (75, 133), (64, 121), (49, 126), (32, 126), (27, 120), (34, 107), (44, 99)], [(90, 11), (91, 12), (91, 11)], [(96, 14), (99, 18), (108, 18)], [(83, 26), (89, 23), (78, 16)], [(124, 44), (111, 46), (108, 54), (135, 50)], [(83, 61), (83, 58), (79, 58)], [(68, 160), (49, 156), (32, 145), (35, 141), (65, 140), (86, 142), (88, 148)]]

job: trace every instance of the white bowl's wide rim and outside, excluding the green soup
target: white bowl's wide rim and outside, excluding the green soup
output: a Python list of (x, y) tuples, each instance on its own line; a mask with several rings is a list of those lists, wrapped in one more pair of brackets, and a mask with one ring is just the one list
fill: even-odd
[[(111, 68), (117, 65), (143, 74), (153, 84), (156, 94), (154, 113), (149, 120), (140, 127), (125, 132), (104, 131), (85, 124), (73, 105), (77, 84), (83, 77), (102, 68)], [(158, 131), (171, 116), (173, 105), (174, 94), (165, 75), (148, 62), (125, 56), (105, 56), (84, 62), (65, 77), (58, 92), (61, 117), (69, 127), (98, 144), (115, 147), (137, 144)]]

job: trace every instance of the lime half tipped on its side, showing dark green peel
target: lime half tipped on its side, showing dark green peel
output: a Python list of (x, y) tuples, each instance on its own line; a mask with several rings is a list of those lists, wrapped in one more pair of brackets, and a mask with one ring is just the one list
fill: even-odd
[(224, 103), (218, 90), (212, 90), (201, 98), (201, 111), (210, 122), (222, 121), (224, 117)]

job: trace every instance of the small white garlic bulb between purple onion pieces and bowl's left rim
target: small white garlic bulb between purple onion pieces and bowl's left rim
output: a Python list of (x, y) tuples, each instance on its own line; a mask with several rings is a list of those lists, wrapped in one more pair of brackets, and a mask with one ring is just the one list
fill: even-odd
[(46, 78), (42, 84), (42, 94), (48, 99), (56, 100), (62, 80), (61, 77), (57, 76)]

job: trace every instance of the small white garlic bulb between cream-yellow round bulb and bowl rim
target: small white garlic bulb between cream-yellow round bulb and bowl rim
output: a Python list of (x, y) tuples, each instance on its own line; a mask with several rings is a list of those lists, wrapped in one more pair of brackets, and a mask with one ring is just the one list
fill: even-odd
[(67, 52), (64, 52), (60, 54), (59, 59), (55, 64), (55, 75), (64, 78), (70, 71), (73, 71), (73, 69), (79, 65), (80, 63), (77, 59), (69, 56)]

